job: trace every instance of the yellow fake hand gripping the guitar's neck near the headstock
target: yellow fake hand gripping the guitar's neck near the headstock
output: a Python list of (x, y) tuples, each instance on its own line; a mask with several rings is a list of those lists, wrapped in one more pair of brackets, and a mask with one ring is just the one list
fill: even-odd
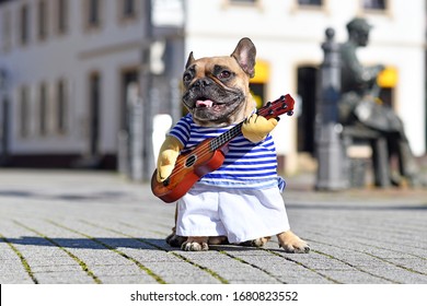
[(257, 143), (263, 141), (267, 134), (273, 131), (273, 129), (277, 126), (277, 122), (278, 121), (275, 118), (267, 120), (263, 116), (253, 114), (243, 122), (242, 133), (249, 141)]

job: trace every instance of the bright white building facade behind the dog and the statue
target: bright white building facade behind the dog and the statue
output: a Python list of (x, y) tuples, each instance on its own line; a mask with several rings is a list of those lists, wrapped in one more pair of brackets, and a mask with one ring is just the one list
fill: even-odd
[[(297, 170), (301, 153), (314, 152), (316, 70), (323, 60), (325, 30), (347, 39), (346, 24), (361, 16), (373, 25), (370, 43), (358, 50), (363, 64), (382, 63), (396, 71), (383, 89), (386, 103), (404, 121), (416, 155), (426, 152), (425, 1), (404, 0), (235, 0), (188, 1), (186, 49), (197, 55), (231, 52), (249, 36), (262, 62), (265, 99), (282, 93), (299, 97), (297, 118), (285, 118), (274, 130), (286, 170)], [(203, 3), (201, 3), (203, 2)], [(209, 12), (209, 13), (203, 13)], [(416, 75), (416, 76), (415, 76)]]

